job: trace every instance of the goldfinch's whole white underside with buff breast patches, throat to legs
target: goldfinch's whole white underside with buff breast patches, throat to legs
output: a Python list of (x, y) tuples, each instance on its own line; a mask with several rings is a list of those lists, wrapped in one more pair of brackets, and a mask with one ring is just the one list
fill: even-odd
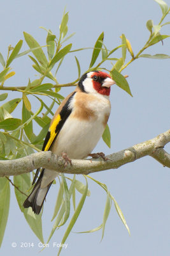
[(86, 94), (71, 102), (73, 111), (53, 143), (53, 153), (66, 152), (72, 159), (83, 159), (96, 147), (110, 115), (110, 101), (96, 97), (87, 100)]

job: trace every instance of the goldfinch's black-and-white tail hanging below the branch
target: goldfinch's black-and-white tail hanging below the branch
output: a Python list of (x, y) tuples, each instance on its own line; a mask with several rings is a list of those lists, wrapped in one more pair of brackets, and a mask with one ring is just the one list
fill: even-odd
[(48, 189), (50, 189), (50, 186), (52, 185), (51, 182), (45, 188), (40, 188), (41, 180), (43, 178), (43, 172), (44, 170), (42, 170), (34, 188), (32, 189), (31, 194), (27, 197), (23, 204), (24, 208), (32, 207), (32, 211), (36, 214), (39, 214), (39, 212), (41, 211), (45, 196), (48, 192)]

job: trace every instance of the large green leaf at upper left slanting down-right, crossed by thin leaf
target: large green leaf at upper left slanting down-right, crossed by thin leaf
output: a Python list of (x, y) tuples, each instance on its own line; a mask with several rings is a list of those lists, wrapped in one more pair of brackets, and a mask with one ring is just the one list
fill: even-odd
[[(27, 45), (29, 46), (30, 49), (40, 47), (38, 42), (36, 42), (36, 40), (26, 32), (24, 32), (24, 38), (25, 38), (25, 41), (27, 42)], [(43, 67), (46, 67), (48, 65), (48, 61), (46, 60), (46, 56), (45, 56), (43, 50), (41, 49), (41, 47), (38, 49), (32, 50), (32, 53), (34, 54), (36, 59), (39, 61), (39, 63)]]

